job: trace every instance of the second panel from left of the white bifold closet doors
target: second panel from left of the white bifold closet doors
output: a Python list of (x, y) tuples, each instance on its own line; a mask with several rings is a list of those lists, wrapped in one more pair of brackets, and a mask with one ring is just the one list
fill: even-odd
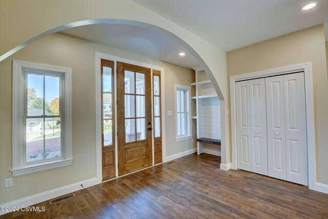
[(265, 79), (250, 80), (252, 172), (268, 175)]

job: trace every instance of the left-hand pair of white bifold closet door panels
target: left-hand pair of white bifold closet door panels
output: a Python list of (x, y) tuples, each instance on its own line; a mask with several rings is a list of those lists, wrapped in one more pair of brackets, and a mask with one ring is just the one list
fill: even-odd
[(268, 175), (264, 78), (236, 83), (238, 168)]

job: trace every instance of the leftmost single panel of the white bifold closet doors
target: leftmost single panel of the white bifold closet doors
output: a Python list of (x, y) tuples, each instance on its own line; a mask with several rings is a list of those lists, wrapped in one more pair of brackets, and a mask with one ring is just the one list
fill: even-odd
[(252, 171), (249, 81), (236, 82), (238, 168)]

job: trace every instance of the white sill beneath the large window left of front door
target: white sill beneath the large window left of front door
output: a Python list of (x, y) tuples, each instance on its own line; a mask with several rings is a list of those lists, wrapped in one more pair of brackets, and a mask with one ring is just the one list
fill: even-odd
[(65, 167), (73, 163), (73, 158), (50, 161), (42, 164), (23, 166), (14, 170), (10, 170), (13, 176), (35, 173), (43, 170), (49, 170), (57, 167)]

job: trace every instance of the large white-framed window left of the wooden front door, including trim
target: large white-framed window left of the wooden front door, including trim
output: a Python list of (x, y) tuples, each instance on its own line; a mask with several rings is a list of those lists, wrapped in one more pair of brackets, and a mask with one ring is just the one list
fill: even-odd
[(72, 163), (71, 69), (13, 61), (14, 176)]

